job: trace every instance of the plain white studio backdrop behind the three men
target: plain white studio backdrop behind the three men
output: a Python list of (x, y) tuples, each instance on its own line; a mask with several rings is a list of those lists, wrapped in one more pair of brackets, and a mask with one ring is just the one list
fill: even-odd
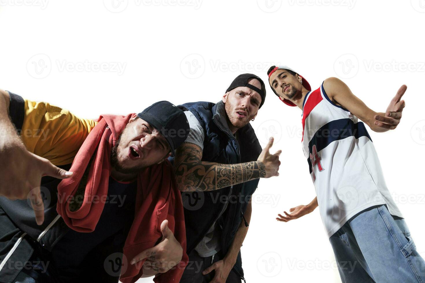
[[(217, 102), (235, 76), (266, 81), (272, 64), (289, 65), (313, 88), (341, 78), (379, 112), (407, 84), (397, 129), (369, 132), (424, 256), (424, 24), (424, 0), (0, 0), (0, 88), (97, 118), (159, 100)], [(275, 137), (282, 164), (254, 195), (246, 280), (340, 282), (318, 210), (275, 220), (315, 191), (301, 112), (267, 92), (252, 126), (262, 146)]]

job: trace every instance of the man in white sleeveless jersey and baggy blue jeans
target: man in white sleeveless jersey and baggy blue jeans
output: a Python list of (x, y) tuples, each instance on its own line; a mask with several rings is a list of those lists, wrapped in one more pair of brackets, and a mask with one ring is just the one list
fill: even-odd
[(400, 87), (384, 113), (369, 109), (338, 78), (312, 90), (287, 66), (272, 66), (267, 74), (278, 98), (303, 111), (302, 147), (317, 194), (277, 220), (297, 219), (319, 206), (343, 282), (425, 282), (425, 262), (385, 185), (364, 126), (374, 132), (395, 129), (407, 87)]

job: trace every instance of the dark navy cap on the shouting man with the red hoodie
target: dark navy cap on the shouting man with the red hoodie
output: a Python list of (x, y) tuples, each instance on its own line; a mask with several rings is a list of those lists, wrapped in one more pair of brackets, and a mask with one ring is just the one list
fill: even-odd
[(175, 149), (183, 143), (190, 131), (189, 122), (183, 110), (169, 101), (158, 101), (137, 114), (150, 123), (167, 140), (174, 156)]

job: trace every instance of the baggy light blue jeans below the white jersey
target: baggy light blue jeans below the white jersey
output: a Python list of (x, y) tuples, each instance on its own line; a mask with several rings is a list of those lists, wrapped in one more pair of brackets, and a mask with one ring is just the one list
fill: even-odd
[(425, 283), (425, 261), (404, 219), (369, 207), (329, 238), (343, 283)]

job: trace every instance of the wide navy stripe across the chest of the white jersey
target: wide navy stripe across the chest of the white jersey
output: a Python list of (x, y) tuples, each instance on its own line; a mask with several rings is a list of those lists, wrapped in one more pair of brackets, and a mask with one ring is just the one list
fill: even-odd
[[(369, 140), (372, 141), (363, 122), (354, 123), (348, 118), (333, 120), (317, 130), (309, 142), (309, 152), (312, 152), (314, 145), (316, 146), (317, 152), (319, 152), (335, 140), (343, 140), (347, 137), (355, 137), (356, 139), (359, 137), (368, 137)], [(307, 162), (309, 163), (311, 174), (312, 161), (310, 157), (307, 158)]]

